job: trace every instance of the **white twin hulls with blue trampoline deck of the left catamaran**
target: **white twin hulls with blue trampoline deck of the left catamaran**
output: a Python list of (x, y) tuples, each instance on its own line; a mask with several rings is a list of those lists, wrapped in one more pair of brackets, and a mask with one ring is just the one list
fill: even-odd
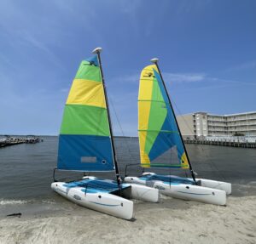
[(80, 206), (124, 219), (133, 218), (131, 198), (150, 202), (158, 202), (160, 198), (158, 189), (146, 185), (122, 184), (119, 190), (113, 180), (91, 176), (71, 183), (55, 182), (51, 188)]

